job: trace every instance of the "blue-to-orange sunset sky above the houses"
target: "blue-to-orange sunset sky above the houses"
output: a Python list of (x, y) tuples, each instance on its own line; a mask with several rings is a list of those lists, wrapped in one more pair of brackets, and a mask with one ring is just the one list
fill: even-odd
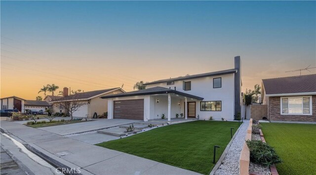
[[(242, 90), (316, 67), (316, 1), (0, 1), (0, 96), (234, 68)], [(302, 75), (315, 74), (316, 69)]]

